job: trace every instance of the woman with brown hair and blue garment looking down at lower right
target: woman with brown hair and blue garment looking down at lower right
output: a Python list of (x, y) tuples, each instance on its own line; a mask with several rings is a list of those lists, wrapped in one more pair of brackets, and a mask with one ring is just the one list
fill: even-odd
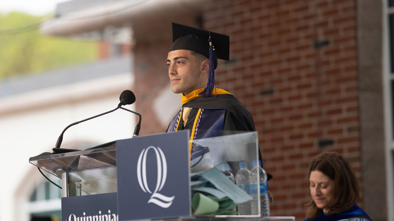
[(336, 153), (322, 153), (309, 166), (312, 201), (305, 221), (372, 221), (359, 207), (359, 184), (350, 164)]

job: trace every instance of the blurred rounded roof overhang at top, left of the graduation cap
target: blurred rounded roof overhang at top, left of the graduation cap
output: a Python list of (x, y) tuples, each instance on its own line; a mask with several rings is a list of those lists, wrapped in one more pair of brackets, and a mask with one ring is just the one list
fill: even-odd
[[(79, 1), (73, 1), (77, 4)], [(46, 35), (72, 36), (107, 27), (132, 27), (138, 40), (160, 39), (171, 32), (171, 22), (195, 25), (204, 0), (118, 0), (73, 10), (45, 20), (41, 32)]]

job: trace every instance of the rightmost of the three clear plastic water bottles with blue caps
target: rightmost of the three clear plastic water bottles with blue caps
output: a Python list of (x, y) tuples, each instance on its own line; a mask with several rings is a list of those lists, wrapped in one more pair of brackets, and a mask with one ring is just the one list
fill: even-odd
[(251, 182), (251, 211), (253, 215), (258, 215), (258, 191), (257, 191), (257, 174), (260, 175), (260, 212), (261, 216), (269, 216), (269, 202), (267, 191), (267, 173), (261, 167), (261, 161), (253, 161), (253, 168), (250, 171), (249, 181)]

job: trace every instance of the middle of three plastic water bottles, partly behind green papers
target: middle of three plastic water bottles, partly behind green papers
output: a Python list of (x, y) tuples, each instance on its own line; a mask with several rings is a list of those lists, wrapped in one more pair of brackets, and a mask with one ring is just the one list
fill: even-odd
[[(237, 175), (235, 175), (235, 183), (246, 193), (249, 193), (249, 169), (247, 169), (247, 162), (241, 162), (239, 164), (240, 169)], [(239, 215), (250, 215), (250, 201), (245, 203), (240, 203), (237, 206)]]

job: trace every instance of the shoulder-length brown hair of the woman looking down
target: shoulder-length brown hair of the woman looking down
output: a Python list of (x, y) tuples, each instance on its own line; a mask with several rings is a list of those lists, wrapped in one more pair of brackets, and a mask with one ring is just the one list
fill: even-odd
[[(309, 176), (312, 171), (320, 171), (334, 181), (334, 202), (329, 204), (330, 211), (326, 215), (334, 215), (351, 208), (360, 199), (360, 187), (349, 162), (336, 153), (322, 153), (313, 158), (309, 166)], [(314, 219), (323, 212), (312, 201), (307, 206), (307, 219)]]

